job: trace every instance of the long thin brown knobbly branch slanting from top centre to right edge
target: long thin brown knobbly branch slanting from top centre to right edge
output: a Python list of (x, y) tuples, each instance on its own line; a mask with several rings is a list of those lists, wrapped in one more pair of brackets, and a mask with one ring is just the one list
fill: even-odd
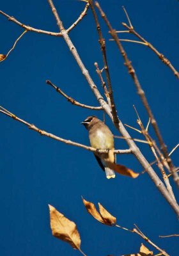
[(161, 136), (160, 131), (159, 131), (159, 127), (158, 127), (157, 122), (156, 122), (156, 120), (153, 116), (152, 110), (150, 109), (150, 106), (148, 104), (148, 101), (146, 99), (144, 91), (141, 88), (141, 84), (139, 83), (139, 80), (137, 78), (134, 67), (132, 67), (131, 61), (128, 60), (128, 56), (127, 56), (125, 50), (123, 49), (123, 46), (120, 43), (120, 39), (118, 38), (118, 35), (117, 35), (116, 31), (112, 28), (111, 24), (109, 23), (109, 20), (107, 20), (107, 17), (105, 16), (105, 13), (102, 11), (102, 9), (100, 8), (100, 6), (97, 2), (96, 2), (96, 6), (97, 6), (98, 10), (100, 11), (100, 14), (102, 15), (102, 18), (105, 20), (105, 23), (107, 24), (107, 27), (109, 28), (109, 31), (111, 33), (111, 36), (113, 37), (116, 44), (118, 45), (118, 49), (120, 50), (121, 55), (123, 56), (123, 59), (125, 60), (125, 65), (127, 66), (128, 74), (130, 74), (130, 76), (132, 77), (132, 79), (134, 81), (134, 84), (136, 85), (136, 88), (137, 88), (137, 93), (141, 97), (143, 105), (146, 108), (146, 111), (147, 111), (148, 115), (150, 116), (151, 123), (153, 125), (153, 129), (155, 130), (155, 133), (156, 133), (157, 138), (158, 138), (159, 143), (160, 143), (160, 148), (162, 149), (162, 152), (164, 153), (164, 157), (166, 158), (167, 163), (169, 164), (170, 172), (173, 175), (173, 180), (175, 181), (176, 186), (178, 186), (178, 188), (179, 188), (178, 173), (175, 172), (175, 166), (173, 165), (173, 163), (171, 161), (171, 158), (169, 157), (169, 154), (167, 153), (167, 147), (164, 144), (164, 141), (163, 141), (162, 136)]

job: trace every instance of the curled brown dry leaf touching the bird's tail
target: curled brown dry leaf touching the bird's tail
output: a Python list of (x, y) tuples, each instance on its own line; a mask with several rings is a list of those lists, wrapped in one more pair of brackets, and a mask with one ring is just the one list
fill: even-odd
[(121, 175), (132, 177), (134, 179), (139, 176), (139, 173), (136, 173), (136, 172), (132, 171), (131, 169), (129, 169), (126, 166), (121, 165), (121, 164), (107, 163), (107, 166), (109, 168), (111, 168), (112, 170), (114, 170), (115, 172), (121, 174)]

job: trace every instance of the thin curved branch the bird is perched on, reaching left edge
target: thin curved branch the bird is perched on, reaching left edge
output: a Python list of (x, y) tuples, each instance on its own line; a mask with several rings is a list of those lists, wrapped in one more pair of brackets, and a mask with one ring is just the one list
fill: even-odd
[[(43, 131), (41, 129), (39, 129), (38, 127), (36, 127), (34, 124), (30, 124), (28, 123), (27, 121), (23, 120), (22, 118), (19, 118), (18, 116), (14, 115), (13, 113), (11, 113), (10, 111), (8, 111), (7, 109), (4, 109), (3, 107), (0, 106), (0, 113), (3, 113), (4, 115), (6, 116), (9, 116), (11, 118), (13, 118), (14, 120), (17, 120), (18, 122), (26, 125), (29, 129), (33, 130), (33, 131), (36, 131), (38, 133), (40, 133), (41, 135), (44, 135), (44, 136), (47, 136), (49, 138), (52, 138), (54, 140), (58, 140), (58, 141), (61, 141), (65, 144), (68, 144), (68, 145), (72, 145), (72, 146), (75, 146), (75, 147), (80, 147), (80, 148), (84, 148), (86, 150), (89, 150), (91, 152), (98, 152), (98, 153), (108, 153), (109, 151), (108, 150), (102, 150), (102, 149), (97, 149), (97, 148), (93, 148), (93, 147), (88, 147), (86, 145), (83, 145), (83, 144), (80, 144), (80, 143), (77, 143), (75, 141), (71, 141), (71, 140), (65, 140), (63, 138), (60, 138), (52, 133), (49, 133), (49, 132), (46, 132), (46, 131)], [(114, 153), (115, 154), (131, 154), (132, 153), (132, 150), (130, 149), (124, 149), (124, 150), (114, 150)]]

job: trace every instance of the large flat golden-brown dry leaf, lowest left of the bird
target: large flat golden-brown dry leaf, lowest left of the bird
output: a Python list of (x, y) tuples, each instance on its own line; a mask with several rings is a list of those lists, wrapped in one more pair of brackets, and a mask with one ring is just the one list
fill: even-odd
[(69, 243), (74, 249), (79, 250), (81, 239), (77, 226), (73, 221), (68, 220), (58, 212), (52, 205), (49, 205), (52, 235)]

